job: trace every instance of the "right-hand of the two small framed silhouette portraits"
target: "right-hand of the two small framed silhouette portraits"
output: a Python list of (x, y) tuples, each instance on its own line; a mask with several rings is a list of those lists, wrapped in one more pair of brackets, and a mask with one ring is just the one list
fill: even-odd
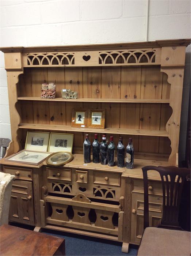
[(105, 114), (105, 109), (89, 109), (88, 128), (104, 128)]

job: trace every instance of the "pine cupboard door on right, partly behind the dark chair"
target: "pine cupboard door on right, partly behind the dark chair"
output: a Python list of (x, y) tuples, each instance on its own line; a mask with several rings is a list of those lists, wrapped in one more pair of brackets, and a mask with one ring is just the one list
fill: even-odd
[[(156, 227), (162, 217), (163, 197), (149, 195), (149, 226)], [(144, 194), (132, 193), (131, 202), (131, 239), (140, 244), (143, 233)]]

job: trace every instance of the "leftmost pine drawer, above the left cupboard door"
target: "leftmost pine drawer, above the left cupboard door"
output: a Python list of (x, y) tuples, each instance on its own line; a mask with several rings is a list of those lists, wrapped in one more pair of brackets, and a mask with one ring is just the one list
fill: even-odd
[(5, 173), (15, 175), (17, 179), (32, 180), (32, 169), (4, 166), (3, 170)]

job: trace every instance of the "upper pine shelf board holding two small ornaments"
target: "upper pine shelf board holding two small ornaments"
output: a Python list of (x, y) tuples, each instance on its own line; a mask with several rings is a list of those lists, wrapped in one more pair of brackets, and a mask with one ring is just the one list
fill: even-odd
[(73, 101), (73, 102), (111, 102), (111, 103), (169, 103), (169, 99), (41, 99), (40, 97), (18, 97), (18, 100), (23, 101)]

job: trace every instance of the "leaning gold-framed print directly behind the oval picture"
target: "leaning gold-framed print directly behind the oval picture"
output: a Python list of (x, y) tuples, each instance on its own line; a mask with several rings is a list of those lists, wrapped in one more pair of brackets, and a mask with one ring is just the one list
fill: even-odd
[(70, 133), (50, 133), (49, 152), (70, 152), (72, 153), (74, 135)]

